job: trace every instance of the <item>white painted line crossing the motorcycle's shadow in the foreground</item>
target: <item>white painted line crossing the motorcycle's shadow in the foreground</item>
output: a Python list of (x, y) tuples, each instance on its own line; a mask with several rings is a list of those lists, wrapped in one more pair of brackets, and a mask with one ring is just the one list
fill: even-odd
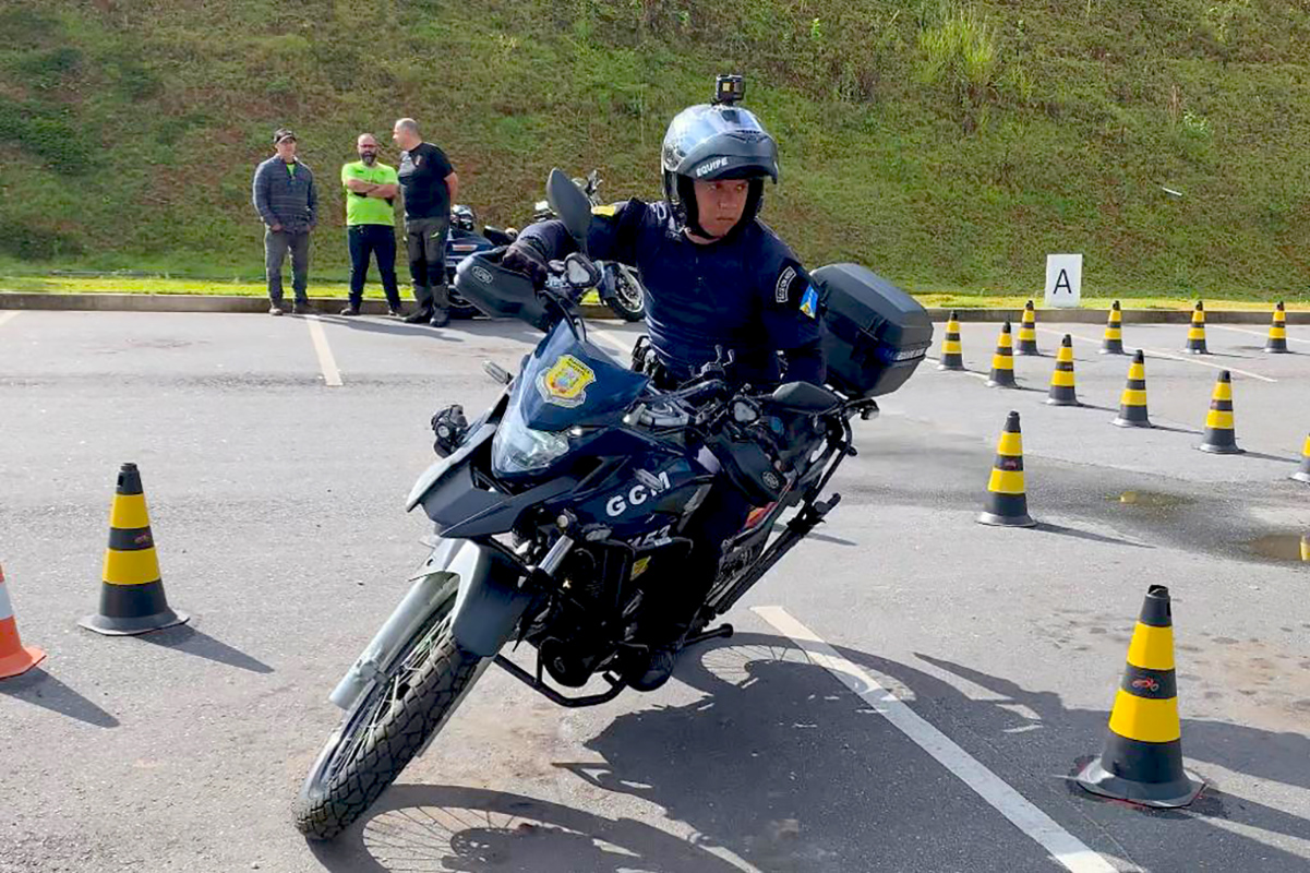
[(793, 619), (782, 607), (755, 607), (753, 612), (790, 637), (806, 657), (837, 678), (862, 697), (893, 728), (909, 737), (914, 745), (955, 773), (965, 785), (1010, 819), (1051, 853), (1070, 873), (1115, 873), (1115, 866), (1082, 840), (1064, 830), (1049, 815), (1034, 806), (1005, 780), (984, 767), (976, 758), (956, 746), (933, 725), (927, 724), (904, 701), (878, 684), (859, 666), (837, 654), (837, 650), (815, 636), (814, 630)]

